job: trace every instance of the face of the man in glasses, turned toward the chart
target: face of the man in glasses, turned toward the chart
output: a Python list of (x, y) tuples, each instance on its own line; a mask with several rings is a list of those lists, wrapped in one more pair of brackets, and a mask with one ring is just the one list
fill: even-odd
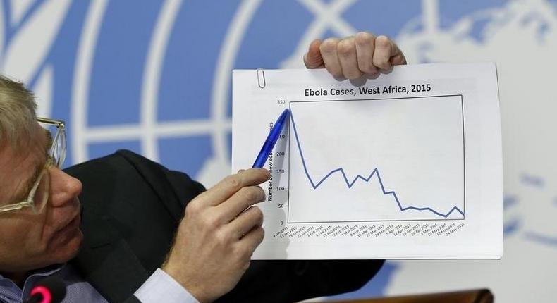
[[(18, 152), (7, 144), (0, 146), (0, 206), (25, 199), (34, 176), (47, 161), (49, 140), (38, 123), (31, 139)], [(49, 198), (40, 214), (33, 214), (29, 207), (0, 213), (2, 273), (20, 273), (63, 263), (78, 252), (83, 239), (79, 229), (81, 183), (55, 166), (47, 173)], [(36, 196), (42, 194), (39, 190)]]

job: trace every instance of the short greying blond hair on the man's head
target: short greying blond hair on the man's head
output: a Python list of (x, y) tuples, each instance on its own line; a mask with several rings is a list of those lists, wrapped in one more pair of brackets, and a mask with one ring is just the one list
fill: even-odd
[(23, 83), (0, 75), (0, 147), (17, 150), (29, 142), (36, 109), (35, 95)]

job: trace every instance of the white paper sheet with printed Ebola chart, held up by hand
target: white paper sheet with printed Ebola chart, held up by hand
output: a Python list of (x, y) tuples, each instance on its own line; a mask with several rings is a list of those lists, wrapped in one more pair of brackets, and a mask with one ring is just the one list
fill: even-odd
[(500, 258), (503, 171), (493, 63), (233, 71), (233, 171), (272, 123), (265, 238), (253, 259)]

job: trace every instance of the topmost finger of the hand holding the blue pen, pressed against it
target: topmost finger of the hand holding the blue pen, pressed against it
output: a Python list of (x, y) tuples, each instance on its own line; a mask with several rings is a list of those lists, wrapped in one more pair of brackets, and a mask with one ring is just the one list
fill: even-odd
[(221, 180), (214, 187), (200, 194), (196, 200), (202, 205), (216, 206), (232, 197), (243, 187), (264, 183), (271, 174), (264, 168), (250, 168)]

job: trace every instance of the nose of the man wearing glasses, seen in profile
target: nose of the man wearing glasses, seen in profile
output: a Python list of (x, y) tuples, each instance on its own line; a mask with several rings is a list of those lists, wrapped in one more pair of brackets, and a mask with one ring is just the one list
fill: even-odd
[(64, 173), (59, 168), (51, 168), (50, 173), (50, 192), (52, 206), (64, 206), (68, 202), (73, 202), (82, 190), (81, 181)]

